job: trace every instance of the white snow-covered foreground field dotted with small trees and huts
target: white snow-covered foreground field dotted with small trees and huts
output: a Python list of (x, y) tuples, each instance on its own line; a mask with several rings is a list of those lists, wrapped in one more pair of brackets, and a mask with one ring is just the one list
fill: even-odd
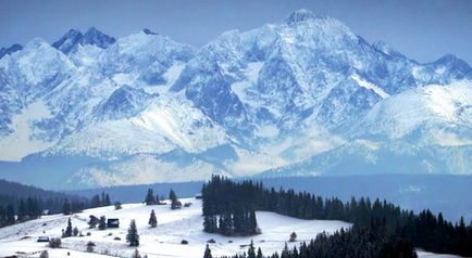
[[(132, 219), (136, 220), (141, 255), (148, 257), (202, 257), (207, 241), (213, 238), (216, 243), (210, 244), (213, 256), (234, 255), (247, 250), (252, 240), (256, 247), (261, 247), (264, 254), (281, 251), (284, 243), (288, 241), (291, 232), (298, 235), (296, 243), (313, 238), (318, 233), (328, 233), (340, 228), (350, 227), (343, 221), (330, 220), (301, 220), (273, 212), (258, 211), (257, 218), (262, 234), (247, 237), (226, 237), (218, 234), (209, 234), (202, 231), (203, 218), (201, 217), (201, 201), (187, 198), (183, 203), (191, 203), (190, 207), (171, 210), (169, 205), (146, 206), (144, 204), (125, 204), (123, 209), (115, 210), (113, 206), (87, 209), (82, 214), (63, 216), (44, 216), (40, 219), (28, 221), (0, 229), (0, 257), (18, 255), (20, 257), (39, 257), (41, 250), (48, 249), (50, 257), (131, 257), (135, 248), (128, 247), (125, 238), (127, 228)], [(158, 227), (148, 225), (149, 215), (154, 209), (158, 218)], [(88, 229), (88, 218), (105, 216), (119, 218), (119, 229)], [(37, 243), (40, 235), (60, 236), (61, 230), (66, 227), (67, 218), (72, 218), (73, 227), (77, 227), (85, 236), (73, 236), (62, 240), (63, 248), (51, 249), (45, 243)], [(87, 236), (90, 232), (91, 235)], [(120, 237), (121, 240), (114, 240)], [(182, 245), (183, 240), (188, 241)], [(86, 253), (86, 244), (91, 241), (96, 244), (94, 254)], [(433, 254), (420, 253), (421, 257), (436, 257)], [(424, 255), (424, 256), (423, 256)], [(440, 257), (440, 256), (437, 256)]]

